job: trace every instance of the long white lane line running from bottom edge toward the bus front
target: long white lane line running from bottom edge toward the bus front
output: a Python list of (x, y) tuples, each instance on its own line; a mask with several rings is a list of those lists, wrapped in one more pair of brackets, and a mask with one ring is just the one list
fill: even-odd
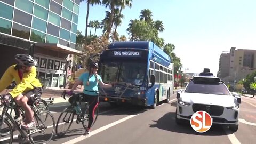
[[(139, 113), (139, 114), (141, 114), (141, 113)], [(82, 141), (82, 140), (84, 140), (84, 139), (86, 139), (86, 138), (91, 137), (91, 136), (94, 135), (94, 134), (97, 134), (97, 133), (99, 133), (99, 132), (105, 131), (105, 130), (109, 129), (110, 127), (113, 127), (113, 126), (115, 126), (115, 125), (117, 125), (117, 124), (119, 124), (119, 123), (122, 123), (122, 122), (124, 122), (124, 121), (126, 121), (126, 120), (128, 120), (128, 119), (130, 119), (130, 118), (132, 118), (132, 117), (138, 116), (139, 114), (130, 115), (130, 116), (124, 117), (124, 118), (122, 118), (122, 119), (119, 119), (119, 120), (116, 121), (116, 122), (113, 122), (113, 123), (110, 123), (110, 124), (108, 124), (108, 125), (102, 126), (102, 127), (100, 127), (99, 129), (90, 132), (90, 135), (81, 135), (81, 136), (79, 136), (79, 137), (77, 137), (77, 138), (75, 138), (75, 139), (72, 139), (72, 140), (67, 141), (67, 142), (65, 142), (65, 143), (62, 143), (62, 144), (73, 144), (73, 143), (77, 143), (77, 142), (79, 142), (79, 141)]]

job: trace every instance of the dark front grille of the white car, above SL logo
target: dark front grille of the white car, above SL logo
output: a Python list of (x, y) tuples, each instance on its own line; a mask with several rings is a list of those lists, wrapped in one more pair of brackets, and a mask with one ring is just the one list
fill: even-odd
[(215, 105), (193, 104), (193, 111), (203, 110), (209, 113), (211, 116), (220, 116), (223, 114), (224, 107)]

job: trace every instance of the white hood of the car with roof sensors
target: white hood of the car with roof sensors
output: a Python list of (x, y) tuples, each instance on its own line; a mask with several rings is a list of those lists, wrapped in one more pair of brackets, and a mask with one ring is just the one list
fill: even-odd
[(237, 105), (235, 97), (231, 95), (181, 93), (181, 100), (188, 103), (201, 103), (230, 107)]

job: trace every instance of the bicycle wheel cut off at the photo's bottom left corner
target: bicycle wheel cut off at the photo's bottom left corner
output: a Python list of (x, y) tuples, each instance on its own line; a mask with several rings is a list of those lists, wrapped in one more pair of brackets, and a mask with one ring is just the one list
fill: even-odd
[(0, 143), (3, 144), (11, 144), (13, 139), (13, 131), (11, 124), (7, 121), (7, 119), (0, 118), (0, 122), (2, 123), (0, 126), (0, 133), (8, 133), (6, 135), (1, 135)]

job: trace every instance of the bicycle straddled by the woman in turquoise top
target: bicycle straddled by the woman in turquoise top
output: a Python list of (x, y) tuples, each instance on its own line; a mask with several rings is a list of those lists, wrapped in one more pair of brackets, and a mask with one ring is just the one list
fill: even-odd
[[(66, 91), (64, 91), (61, 94), (61, 97), (62, 96), (66, 100), (65, 98)], [(73, 97), (79, 97), (79, 105), (81, 106), (82, 95), (73, 94)], [(73, 123), (73, 119), (75, 115), (77, 115), (76, 123), (77, 124), (82, 123), (84, 129), (87, 128), (87, 123), (89, 121), (89, 103), (88, 102), (84, 102), (84, 103), (85, 103), (85, 109), (80, 114), (79, 112), (81, 111), (81, 109), (80, 108), (76, 109), (78, 106), (76, 103), (76, 99), (73, 101), (73, 103), (71, 103), (70, 106), (68, 106), (61, 112), (56, 124), (56, 134), (58, 135), (58, 137), (63, 137), (67, 133), (67, 131), (70, 129), (71, 124)], [(92, 126), (96, 122), (98, 113), (99, 113), (99, 108), (97, 106), (94, 111), (94, 116), (93, 116), (94, 119), (93, 119)], [(62, 116), (64, 117), (62, 118)], [(63, 131), (61, 131), (62, 130), (61, 125), (67, 126), (67, 129), (64, 129)]]

